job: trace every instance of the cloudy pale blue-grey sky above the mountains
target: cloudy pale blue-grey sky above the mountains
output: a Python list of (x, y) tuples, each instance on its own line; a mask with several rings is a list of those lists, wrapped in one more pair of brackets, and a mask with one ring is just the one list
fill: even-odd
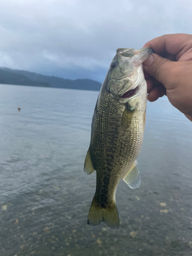
[(0, 67), (102, 82), (117, 48), (192, 34), (191, 0), (5, 0)]

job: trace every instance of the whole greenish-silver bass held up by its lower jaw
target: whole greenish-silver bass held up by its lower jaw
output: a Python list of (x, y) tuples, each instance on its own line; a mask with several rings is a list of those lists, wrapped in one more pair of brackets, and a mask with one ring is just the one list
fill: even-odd
[(91, 125), (91, 141), (84, 162), (88, 175), (96, 170), (96, 191), (88, 225), (102, 222), (119, 229), (115, 194), (123, 179), (131, 188), (140, 186), (137, 157), (143, 142), (147, 86), (142, 62), (150, 48), (118, 48), (101, 86)]

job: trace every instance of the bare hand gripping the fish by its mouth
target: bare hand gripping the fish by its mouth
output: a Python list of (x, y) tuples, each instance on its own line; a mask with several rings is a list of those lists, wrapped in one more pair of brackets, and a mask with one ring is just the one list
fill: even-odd
[(163, 35), (144, 47), (155, 51), (143, 62), (147, 99), (152, 102), (166, 95), (192, 121), (192, 35)]

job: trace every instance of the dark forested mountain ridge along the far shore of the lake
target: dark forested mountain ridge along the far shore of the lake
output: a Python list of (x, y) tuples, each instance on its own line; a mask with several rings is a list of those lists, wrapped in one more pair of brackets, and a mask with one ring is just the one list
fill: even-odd
[(56, 76), (44, 76), (24, 70), (0, 68), (0, 83), (25, 86), (53, 87), (77, 90), (99, 91), (101, 83), (91, 79), (63, 79)]

